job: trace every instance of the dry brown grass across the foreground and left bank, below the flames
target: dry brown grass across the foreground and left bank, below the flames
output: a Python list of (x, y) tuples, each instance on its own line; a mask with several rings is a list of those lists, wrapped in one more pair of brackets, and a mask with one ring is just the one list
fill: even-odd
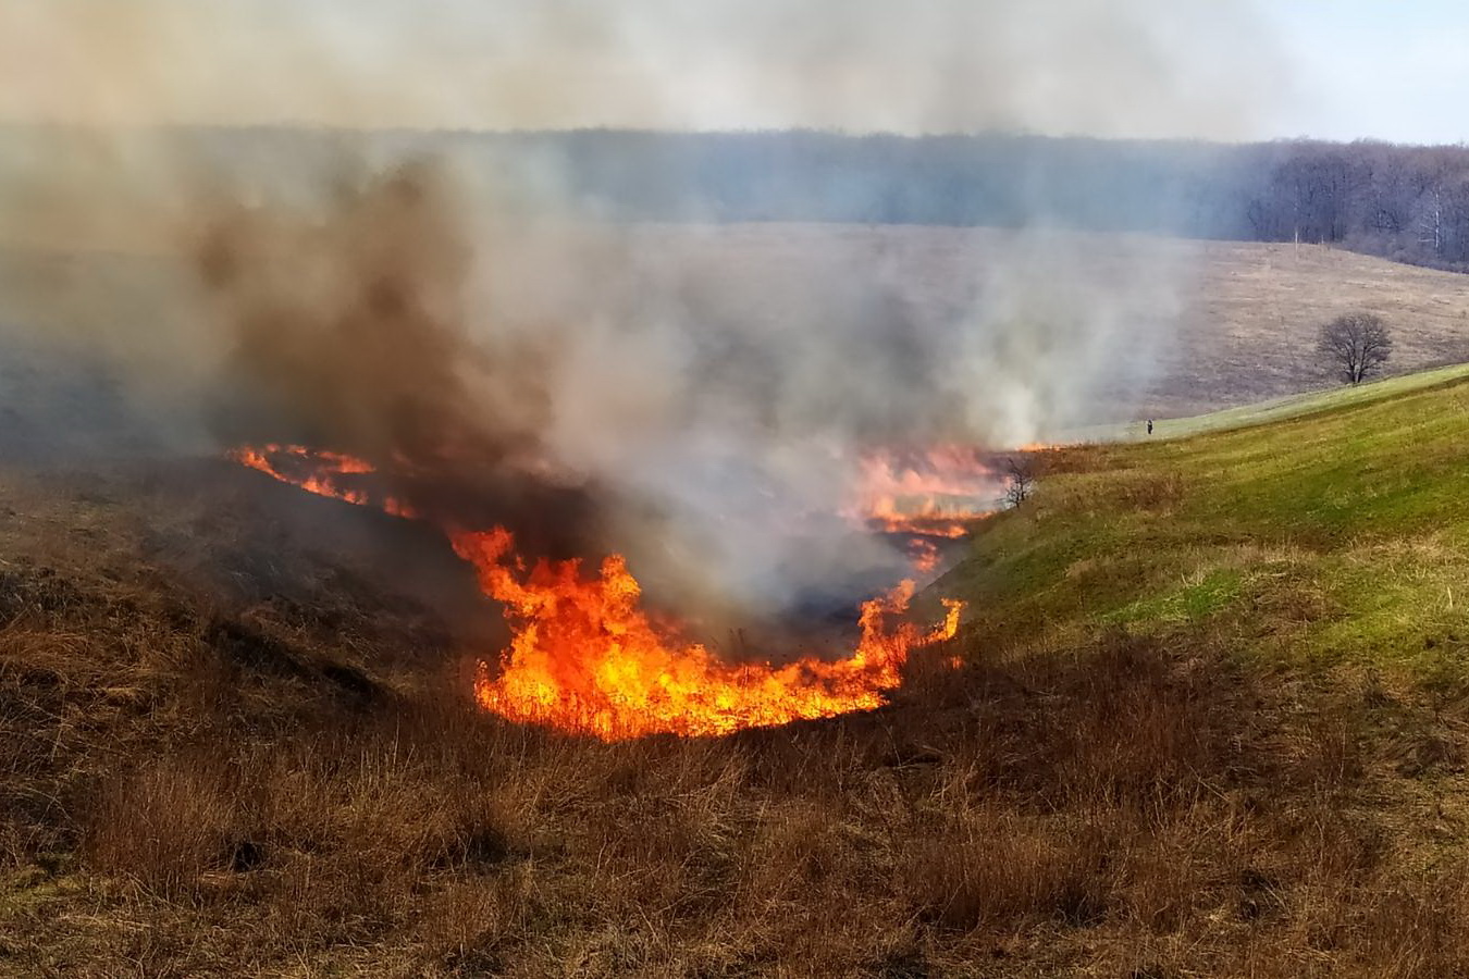
[[(1453, 812), (1382, 803), (1404, 759), (1457, 771), (1437, 705), (1397, 697), (1384, 735), (1382, 690), (1197, 634), (989, 665), (974, 636), (876, 713), (605, 744), (485, 715), (430, 614), (372, 580), (332, 606), (300, 539), (239, 562), (216, 525), (242, 580), (201, 590), (106, 503), (9, 502), (0, 972), (1469, 967)], [(173, 503), (153, 534), (213, 508)], [(411, 636), (439, 652), (408, 669)]]

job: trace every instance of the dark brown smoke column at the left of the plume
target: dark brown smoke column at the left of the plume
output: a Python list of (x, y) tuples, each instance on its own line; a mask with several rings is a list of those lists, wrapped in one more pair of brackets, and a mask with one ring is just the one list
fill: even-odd
[(585, 553), (598, 543), (586, 480), (532, 471), (546, 459), (546, 351), (472, 341), (457, 214), (442, 175), (413, 163), (338, 186), (317, 213), (214, 216), (195, 247), (231, 338), (214, 432), (350, 452), (439, 523), (505, 524), (533, 553)]

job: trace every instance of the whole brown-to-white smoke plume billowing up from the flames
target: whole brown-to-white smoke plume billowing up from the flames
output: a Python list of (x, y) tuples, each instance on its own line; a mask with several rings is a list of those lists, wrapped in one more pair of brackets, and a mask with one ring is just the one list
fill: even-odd
[(358, 454), (447, 523), (779, 612), (906, 569), (843, 512), (871, 451), (1084, 421), (1141, 383), (1134, 343), (1175, 302), (1166, 252), (1084, 264), (1090, 239), (1022, 232), (921, 310), (933, 255), (779, 226), (752, 302), (729, 233), (505, 219), (427, 166), (225, 211), (195, 252), (232, 343), (219, 432)]

